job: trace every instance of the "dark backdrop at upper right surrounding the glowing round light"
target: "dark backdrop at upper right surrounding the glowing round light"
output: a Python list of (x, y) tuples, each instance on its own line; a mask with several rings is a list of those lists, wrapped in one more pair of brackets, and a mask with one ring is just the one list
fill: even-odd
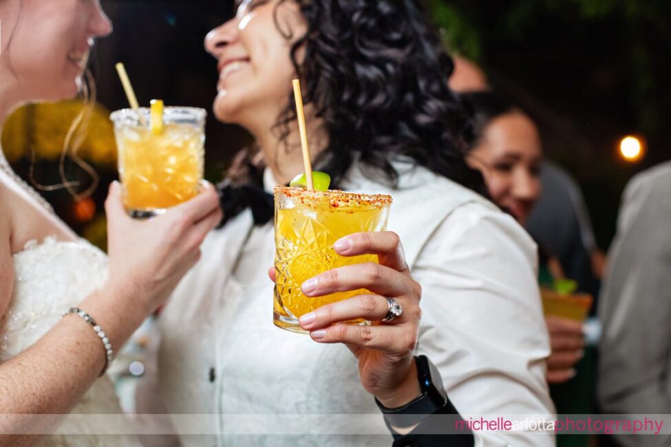
[[(427, 0), (452, 53), (540, 124), (546, 153), (577, 178), (599, 245), (615, 232), (624, 185), (671, 159), (671, 1)], [(643, 135), (646, 159), (615, 146)]]

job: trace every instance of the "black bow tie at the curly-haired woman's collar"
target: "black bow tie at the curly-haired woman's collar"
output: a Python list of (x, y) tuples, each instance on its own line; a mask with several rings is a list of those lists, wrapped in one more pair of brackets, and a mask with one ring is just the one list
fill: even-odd
[(228, 180), (217, 185), (219, 203), (224, 212), (218, 228), (226, 225), (226, 222), (239, 215), (246, 208), (251, 208), (254, 225), (265, 225), (275, 215), (275, 202), (273, 195), (266, 193), (264, 188), (255, 184), (243, 184), (233, 186)]

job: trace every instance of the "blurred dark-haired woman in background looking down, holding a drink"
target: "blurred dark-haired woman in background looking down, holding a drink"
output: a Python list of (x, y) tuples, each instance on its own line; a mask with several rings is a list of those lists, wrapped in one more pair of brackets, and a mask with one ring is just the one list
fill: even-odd
[[(467, 155), (471, 166), (484, 175), (493, 201), (526, 223), (541, 194), (542, 144), (533, 120), (518, 107), (492, 92), (463, 94), (473, 111), (475, 140)], [(548, 223), (552, 226), (552, 223)], [(562, 279), (560, 263), (540, 246), (539, 281)], [(552, 283), (552, 281), (547, 281)], [(558, 413), (589, 413), (589, 394), (582, 392), (576, 364), (584, 355), (582, 322), (560, 316), (546, 316), (552, 353), (548, 358), (547, 380)], [(562, 384), (560, 386), (560, 384)], [(566, 439), (566, 438), (564, 438)], [(560, 445), (581, 445), (586, 437)]]

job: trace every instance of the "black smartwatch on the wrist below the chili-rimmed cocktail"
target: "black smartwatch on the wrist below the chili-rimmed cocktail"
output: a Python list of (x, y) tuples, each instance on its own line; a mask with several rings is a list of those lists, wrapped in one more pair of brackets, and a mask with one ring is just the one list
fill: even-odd
[(425, 417), (436, 413), (447, 404), (447, 393), (443, 388), (443, 380), (440, 378), (438, 369), (427, 356), (415, 357), (417, 364), (417, 378), (421, 394), (403, 406), (387, 408), (375, 400), (382, 411), (387, 426), (393, 431), (394, 428), (408, 428), (416, 426)]

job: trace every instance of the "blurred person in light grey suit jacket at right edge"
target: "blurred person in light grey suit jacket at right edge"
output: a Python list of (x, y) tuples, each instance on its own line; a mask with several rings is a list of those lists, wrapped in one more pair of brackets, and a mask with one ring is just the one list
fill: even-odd
[[(671, 162), (624, 191), (599, 304), (598, 397), (604, 413), (671, 413)], [(627, 447), (671, 437), (622, 436)]]

